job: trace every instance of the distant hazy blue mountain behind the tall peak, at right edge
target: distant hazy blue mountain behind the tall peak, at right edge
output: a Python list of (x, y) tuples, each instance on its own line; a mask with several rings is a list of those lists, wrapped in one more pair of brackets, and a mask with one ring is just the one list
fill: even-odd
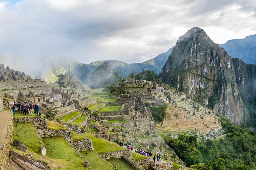
[(233, 58), (239, 58), (247, 64), (256, 64), (256, 34), (244, 39), (232, 39), (220, 46)]

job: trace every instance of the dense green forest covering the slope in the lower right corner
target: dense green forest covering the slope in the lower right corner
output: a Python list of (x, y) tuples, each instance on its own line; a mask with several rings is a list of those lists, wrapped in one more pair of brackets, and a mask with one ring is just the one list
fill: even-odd
[[(165, 138), (177, 155), (193, 169), (240, 170), (256, 169), (256, 132), (220, 118), (225, 138), (198, 141), (186, 134)], [(198, 165), (199, 164), (199, 165)]]

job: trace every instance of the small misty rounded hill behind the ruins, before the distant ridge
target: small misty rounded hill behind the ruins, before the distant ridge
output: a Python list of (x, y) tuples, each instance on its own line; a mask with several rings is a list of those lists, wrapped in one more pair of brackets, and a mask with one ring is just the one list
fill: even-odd
[(93, 71), (89, 86), (91, 88), (104, 88), (108, 84), (114, 84), (121, 80), (121, 76), (107, 62), (103, 62)]

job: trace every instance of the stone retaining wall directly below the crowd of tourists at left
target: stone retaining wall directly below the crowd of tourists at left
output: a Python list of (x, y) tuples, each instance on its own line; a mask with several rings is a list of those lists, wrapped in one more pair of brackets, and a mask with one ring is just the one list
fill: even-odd
[(14, 117), (13, 121), (18, 123), (32, 123), (36, 127), (37, 132), (41, 135), (48, 131), (46, 116)]

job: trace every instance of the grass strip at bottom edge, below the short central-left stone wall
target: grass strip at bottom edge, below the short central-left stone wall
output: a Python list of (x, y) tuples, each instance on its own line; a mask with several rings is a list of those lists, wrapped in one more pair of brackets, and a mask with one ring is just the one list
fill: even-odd
[[(93, 170), (114, 170), (114, 167), (93, 151), (80, 152), (88, 160)], [(86, 154), (87, 153), (87, 154)]]

